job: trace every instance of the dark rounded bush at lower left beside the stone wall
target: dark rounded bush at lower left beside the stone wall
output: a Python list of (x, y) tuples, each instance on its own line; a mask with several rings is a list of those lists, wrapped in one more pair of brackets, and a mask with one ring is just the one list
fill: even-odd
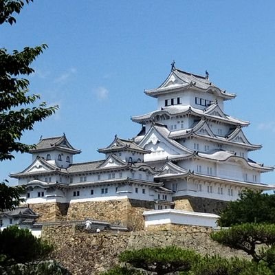
[(28, 229), (10, 226), (0, 231), (0, 265), (41, 261), (52, 249), (52, 245), (37, 239)]

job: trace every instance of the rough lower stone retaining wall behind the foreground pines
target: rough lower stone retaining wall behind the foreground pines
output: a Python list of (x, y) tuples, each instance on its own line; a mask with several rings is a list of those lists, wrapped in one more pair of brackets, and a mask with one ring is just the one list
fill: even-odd
[(118, 264), (120, 252), (135, 248), (177, 245), (201, 254), (247, 257), (242, 252), (212, 241), (209, 228), (187, 225), (170, 225), (170, 228), (165, 226), (159, 225), (155, 228), (162, 231), (101, 232), (100, 234), (78, 233), (74, 225), (44, 226), (42, 238), (54, 243), (55, 250), (51, 258), (61, 262), (76, 275), (97, 275), (109, 270)]

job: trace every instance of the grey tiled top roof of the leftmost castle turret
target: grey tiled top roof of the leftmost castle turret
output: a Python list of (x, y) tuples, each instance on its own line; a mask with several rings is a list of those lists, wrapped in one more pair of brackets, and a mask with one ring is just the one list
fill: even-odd
[(65, 135), (61, 137), (47, 137), (43, 138), (36, 144), (36, 148), (31, 149), (30, 153), (36, 153), (41, 151), (52, 151), (59, 149), (61, 151), (69, 151), (70, 153), (79, 154), (80, 150), (75, 149), (69, 144)]

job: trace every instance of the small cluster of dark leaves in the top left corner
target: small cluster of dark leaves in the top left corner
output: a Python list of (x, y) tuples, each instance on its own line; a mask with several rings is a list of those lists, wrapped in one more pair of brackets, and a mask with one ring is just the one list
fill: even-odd
[[(25, 0), (26, 3), (30, 3), (30, 1), (33, 0)], [(0, 24), (8, 22), (12, 25), (15, 23), (16, 20), (12, 14), (14, 12), (19, 14), (24, 4), (22, 0), (0, 0)]]

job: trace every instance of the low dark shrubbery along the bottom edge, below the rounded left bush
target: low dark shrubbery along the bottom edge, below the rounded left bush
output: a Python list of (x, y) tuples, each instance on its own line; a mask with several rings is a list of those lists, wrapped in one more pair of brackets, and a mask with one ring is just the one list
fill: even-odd
[(8, 267), (1, 267), (2, 275), (70, 275), (62, 265), (56, 261), (41, 261), (36, 265), (11, 265)]

